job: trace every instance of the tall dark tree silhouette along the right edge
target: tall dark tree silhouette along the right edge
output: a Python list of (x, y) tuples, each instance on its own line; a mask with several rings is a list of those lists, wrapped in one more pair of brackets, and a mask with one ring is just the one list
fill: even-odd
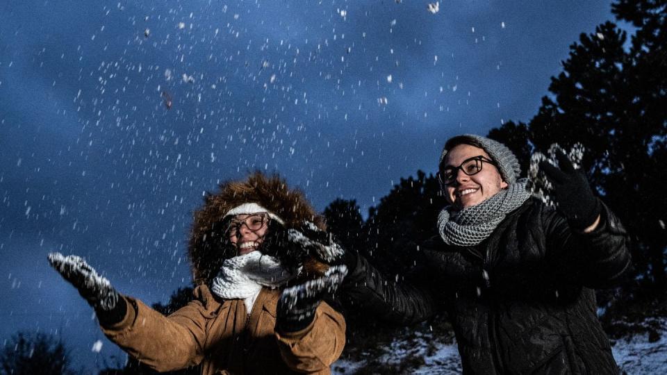
[[(507, 142), (521, 157), (558, 142), (586, 147), (583, 165), (591, 185), (636, 238), (636, 272), (654, 297), (667, 287), (662, 192), (667, 163), (667, 26), (664, 1), (618, 1), (617, 19), (637, 28), (627, 35), (606, 22), (579, 37), (552, 77), (550, 97), (527, 126), (512, 122), (489, 136)], [(523, 139), (523, 142), (521, 140)]]

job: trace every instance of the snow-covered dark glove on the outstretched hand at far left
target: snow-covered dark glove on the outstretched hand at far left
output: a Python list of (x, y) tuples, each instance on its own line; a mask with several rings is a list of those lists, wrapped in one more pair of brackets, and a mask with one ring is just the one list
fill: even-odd
[(97, 274), (85, 260), (79, 256), (63, 256), (61, 253), (49, 253), (51, 266), (69, 281), (88, 304), (95, 309), (100, 324), (110, 325), (120, 322), (127, 312), (125, 299), (111, 286), (109, 281)]

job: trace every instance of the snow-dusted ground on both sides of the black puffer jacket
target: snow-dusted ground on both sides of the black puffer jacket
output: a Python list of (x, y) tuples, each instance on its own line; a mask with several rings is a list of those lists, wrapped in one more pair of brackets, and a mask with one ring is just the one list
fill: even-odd
[[(659, 324), (660, 338), (656, 342), (649, 342), (645, 334), (617, 340), (614, 344), (614, 358), (626, 374), (667, 374), (667, 318), (661, 318)], [(369, 361), (395, 366), (395, 372), (406, 374), (461, 374), (456, 342), (438, 342), (428, 334), (418, 333), (409, 340), (396, 339), (381, 349), (379, 356), (367, 353), (362, 357), (361, 360), (338, 360), (333, 374), (355, 374), (363, 367), (372, 369), (367, 366)]]

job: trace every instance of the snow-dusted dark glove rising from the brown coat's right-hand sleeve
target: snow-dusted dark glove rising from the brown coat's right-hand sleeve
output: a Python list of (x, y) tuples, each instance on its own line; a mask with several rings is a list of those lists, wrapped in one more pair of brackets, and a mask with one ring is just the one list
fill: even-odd
[(306, 328), (315, 319), (315, 310), (327, 294), (333, 294), (347, 275), (347, 267), (331, 267), (324, 276), (286, 288), (280, 295), (276, 327), (283, 332)]

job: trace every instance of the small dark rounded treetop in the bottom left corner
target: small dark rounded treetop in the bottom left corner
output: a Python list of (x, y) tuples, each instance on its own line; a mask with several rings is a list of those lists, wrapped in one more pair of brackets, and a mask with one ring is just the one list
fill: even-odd
[(19, 332), (0, 352), (2, 375), (76, 374), (65, 344), (44, 333)]

